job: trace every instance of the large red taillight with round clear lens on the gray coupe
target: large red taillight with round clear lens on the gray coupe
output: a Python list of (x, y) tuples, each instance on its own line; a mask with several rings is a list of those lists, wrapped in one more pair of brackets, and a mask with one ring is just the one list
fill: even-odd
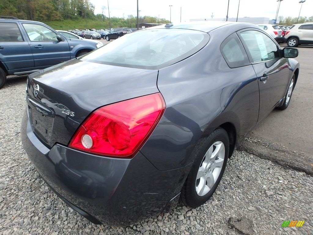
[(164, 110), (161, 93), (101, 107), (82, 123), (69, 147), (93, 154), (132, 158), (150, 136)]

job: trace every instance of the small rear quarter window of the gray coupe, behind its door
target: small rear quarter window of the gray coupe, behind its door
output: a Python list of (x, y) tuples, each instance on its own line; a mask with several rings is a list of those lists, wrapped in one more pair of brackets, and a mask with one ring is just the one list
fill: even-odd
[(223, 41), (220, 50), (230, 68), (236, 68), (250, 64), (244, 47), (236, 33), (233, 33)]

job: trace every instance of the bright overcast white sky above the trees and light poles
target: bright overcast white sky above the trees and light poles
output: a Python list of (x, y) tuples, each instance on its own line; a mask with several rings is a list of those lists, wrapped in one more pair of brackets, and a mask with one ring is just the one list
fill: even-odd
[[(300, 12), (300, 0), (283, 0), (280, 3), (279, 16), (298, 17)], [(95, 14), (101, 13), (101, 7), (105, 6), (105, 15), (108, 14), (107, 0), (90, 0), (95, 5)], [(171, 18), (173, 23), (180, 22), (180, 10), (182, 9), (182, 22), (197, 18), (226, 18), (228, 0), (138, 0), (140, 16), (155, 16), (170, 19), (170, 7), (172, 5)], [(229, 1), (229, 18), (236, 18), (239, 0)], [(238, 17), (268, 17), (274, 19), (278, 7), (277, 0), (240, 0)], [(137, 16), (137, 0), (109, 0), (110, 16), (124, 17)], [(313, 0), (303, 3), (301, 14), (303, 17), (313, 16)]]

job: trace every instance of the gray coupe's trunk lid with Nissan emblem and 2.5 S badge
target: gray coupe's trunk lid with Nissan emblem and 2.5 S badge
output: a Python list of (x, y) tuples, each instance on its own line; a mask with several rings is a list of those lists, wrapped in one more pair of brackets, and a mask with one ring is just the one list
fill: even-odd
[(159, 92), (158, 70), (69, 60), (29, 76), (27, 104), (33, 132), (47, 146), (68, 145), (95, 109)]

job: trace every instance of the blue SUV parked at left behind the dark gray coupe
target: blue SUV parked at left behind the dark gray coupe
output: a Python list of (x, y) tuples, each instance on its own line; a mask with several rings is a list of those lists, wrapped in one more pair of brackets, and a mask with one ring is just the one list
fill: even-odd
[(30, 74), (102, 45), (65, 38), (41, 22), (0, 16), (0, 88), (8, 75)]

